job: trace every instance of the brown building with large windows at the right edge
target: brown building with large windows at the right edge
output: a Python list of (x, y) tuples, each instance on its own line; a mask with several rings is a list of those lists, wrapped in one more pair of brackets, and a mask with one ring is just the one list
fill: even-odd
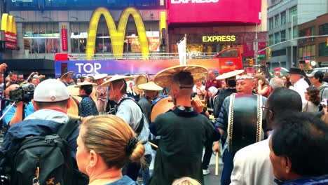
[(298, 41), (298, 59), (328, 66), (328, 13), (299, 25), (299, 36), (320, 36)]

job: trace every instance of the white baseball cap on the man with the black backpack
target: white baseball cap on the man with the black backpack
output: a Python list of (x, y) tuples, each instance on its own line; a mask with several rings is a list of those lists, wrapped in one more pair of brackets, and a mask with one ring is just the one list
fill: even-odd
[(60, 102), (69, 99), (69, 91), (61, 81), (48, 79), (36, 86), (33, 99), (36, 102)]

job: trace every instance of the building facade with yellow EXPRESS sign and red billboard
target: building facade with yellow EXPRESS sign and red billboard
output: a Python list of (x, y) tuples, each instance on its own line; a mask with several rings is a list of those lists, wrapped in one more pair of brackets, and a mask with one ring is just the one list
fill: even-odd
[[(173, 4), (173, 1), (175, 0), (168, 4), (170, 53), (177, 53), (177, 43), (186, 35), (186, 50), (189, 55), (218, 53), (226, 48), (238, 47), (244, 66), (247, 67), (248, 61), (256, 57), (256, 37), (259, 50), (266, 48), (266, 1), (238, 0), (226, 4), (218, 1), (205, 7), (203, 4)], [(242, 6), (235, 6), (238, 4)], [(231, 6), (235, 6), (235, 10), (228, 8)], [(247, 13), (247, 10), (252, 13)], [(179, 15), (172, 11), (179, 12)], [(191, 13), (195, 11), (197, 13), (193, 18)], [(265, 50), (259, 56), (259, 60), (265, 60)]]

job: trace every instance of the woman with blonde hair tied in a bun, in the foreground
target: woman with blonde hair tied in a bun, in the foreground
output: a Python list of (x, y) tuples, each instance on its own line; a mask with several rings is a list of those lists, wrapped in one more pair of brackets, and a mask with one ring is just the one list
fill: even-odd
[(89, 184), (136, 184), (121, 169), (128, 160), (143, 160), (144, 145), (123, 119), (114, 115), (88, 119), (81, 125), (77, 144), (78, 170), (88, 175)]

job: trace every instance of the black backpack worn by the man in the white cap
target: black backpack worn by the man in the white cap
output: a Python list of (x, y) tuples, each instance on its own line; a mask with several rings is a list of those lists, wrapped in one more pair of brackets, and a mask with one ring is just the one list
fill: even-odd
[(87, 184), (83, 174), (74, 169), (76, 163), (67, 143), (78, 125), (78, 120), (71, 119), (57, 134), (27, 137), (13, 146), (4, 155), (10, 162), (6, 165), (10, 184)]

